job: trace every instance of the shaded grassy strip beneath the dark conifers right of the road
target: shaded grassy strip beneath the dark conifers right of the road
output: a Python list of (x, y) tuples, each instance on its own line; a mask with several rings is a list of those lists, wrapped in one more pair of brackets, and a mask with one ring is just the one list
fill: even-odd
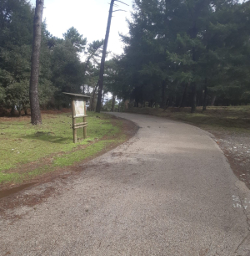
[(206, 111), (198, 107), (196, 113), (191, 114), (190, 108), (133, 108), (128, 112), (157, 115), (168, 117), (173, 120), (181, 120), (204, 129), (228, 130), (234, 132), (250, 133), (250, 105), (247, 106), (228, 106), (215, 107), (208, 106)]

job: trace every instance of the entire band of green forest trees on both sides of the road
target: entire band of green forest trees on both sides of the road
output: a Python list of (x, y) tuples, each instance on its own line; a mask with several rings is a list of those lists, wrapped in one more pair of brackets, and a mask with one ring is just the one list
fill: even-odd
[[(0, 109), (27, 114), (34, 8), (26, 0), (0, 3)], [(134, 0), (127, 23), (124, 53), (105, 63), (102, 99), (110, 92), (128, 106), (192, 112), (250, 104), (250, 1)], [(42, 109), (68, 107), (62, 92), (72, 92), (91, 95), (95, 110), (102, 44), (73, 27), (56, 38), (42, 23)]]

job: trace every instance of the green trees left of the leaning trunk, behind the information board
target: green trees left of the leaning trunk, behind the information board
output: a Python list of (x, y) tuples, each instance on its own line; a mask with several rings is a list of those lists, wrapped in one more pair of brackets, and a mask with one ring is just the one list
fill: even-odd
[[(33, 16), (34, 8), (26, 0), (0, 0), (0, 109), (18, 110), (20, 115), (29, 108)], [(38, 94), (43, 109), (68, 107), (62, 91), (91, 94), (102, 44), (87, 44), (73, 27), (56, 38), (42, 23)]]

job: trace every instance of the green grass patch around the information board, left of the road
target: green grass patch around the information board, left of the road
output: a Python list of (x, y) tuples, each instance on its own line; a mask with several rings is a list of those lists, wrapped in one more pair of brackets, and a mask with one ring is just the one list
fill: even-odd
[(93, 112), (87, 115), (87, 139), (82, 139), (83, 128), (77, 129), (76, 144), (72, 143), (70, 114), (42, 115), (42, 125), (31, 125), (29, 118), (1, 118), (0, 187), (70, 166), (125, 141), (126, 136), (119, 134), (121, 120)]

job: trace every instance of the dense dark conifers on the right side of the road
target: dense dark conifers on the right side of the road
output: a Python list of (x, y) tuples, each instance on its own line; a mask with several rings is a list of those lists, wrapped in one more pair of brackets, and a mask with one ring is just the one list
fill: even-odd
[(250, 1), (134, 0), (106, 87), (134, 106), (250, 104)]

